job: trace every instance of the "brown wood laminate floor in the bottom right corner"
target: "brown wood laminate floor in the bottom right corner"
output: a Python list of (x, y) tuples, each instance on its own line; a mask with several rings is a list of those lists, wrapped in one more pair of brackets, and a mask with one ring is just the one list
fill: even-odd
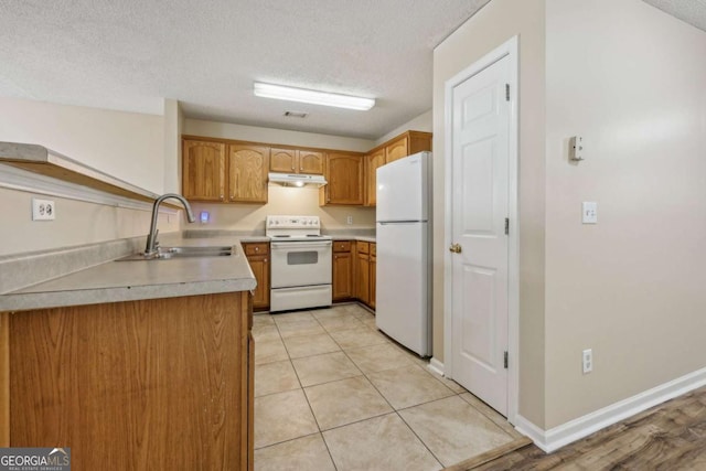
[(534, 445), (454, 470), (706, 470), (706, 387), (546, 454)]

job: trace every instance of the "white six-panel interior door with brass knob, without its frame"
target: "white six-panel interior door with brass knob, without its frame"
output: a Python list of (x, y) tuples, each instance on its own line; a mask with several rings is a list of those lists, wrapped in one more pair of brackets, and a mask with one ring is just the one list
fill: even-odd
[[(452, 89), (452, 376), (507, 415), (510, 57)], [(458, 250), (458, 249), (457, 249)]]

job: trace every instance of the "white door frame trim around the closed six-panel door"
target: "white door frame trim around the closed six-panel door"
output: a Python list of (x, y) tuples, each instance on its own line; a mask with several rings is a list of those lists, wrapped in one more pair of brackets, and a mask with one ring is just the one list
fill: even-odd
[(452, 325), (453, 300), (451, 285), (453, 272), (451, 253), (447, 250), (452, 244), (452, 174), (453, 174), (453, 88), (479, 72), (493, 65), (501, 58), (510, 56), (510, 132), (509, 132), (509, 168), (507, 168), (507, 217), (510, 235), (507, 239), (507, 421), (515, 422), (520, 404), (520, 223), (518, 223), (518, 36), (489, 52), (473, 64), (449, 78), (445, 84), (445, 257), (443, 257), (443, 371), (447, 377), (453, 378)]

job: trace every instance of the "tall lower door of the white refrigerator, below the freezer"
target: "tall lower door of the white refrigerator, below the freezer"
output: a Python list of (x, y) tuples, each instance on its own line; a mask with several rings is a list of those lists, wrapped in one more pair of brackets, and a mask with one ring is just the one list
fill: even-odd
[(375, 322), (420, 356), (431, 354), (428, 223), (378, 223)]

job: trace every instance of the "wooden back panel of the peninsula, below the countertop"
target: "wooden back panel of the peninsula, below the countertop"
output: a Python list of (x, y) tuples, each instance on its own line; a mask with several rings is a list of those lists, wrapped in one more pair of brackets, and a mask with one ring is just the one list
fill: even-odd
[(1, 314), (11, 447), (76, 470), (252, 470), (248, 292)]

